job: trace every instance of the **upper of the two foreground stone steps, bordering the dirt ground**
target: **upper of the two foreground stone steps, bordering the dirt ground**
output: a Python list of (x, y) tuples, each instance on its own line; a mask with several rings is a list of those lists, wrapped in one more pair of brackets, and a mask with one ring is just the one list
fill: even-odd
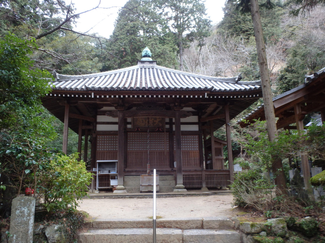
[[(204, 217), (204, 218), (171, 218), (157, 219), (157, 228), (178, 228), (178, 229), (215, 229), (230, 230), (235, 228), (235, 224), (228, 217)], [(150, 228), (152, 219), (107, 219), (96, 220), (88, 227), (93, 229), (111, 228)]]

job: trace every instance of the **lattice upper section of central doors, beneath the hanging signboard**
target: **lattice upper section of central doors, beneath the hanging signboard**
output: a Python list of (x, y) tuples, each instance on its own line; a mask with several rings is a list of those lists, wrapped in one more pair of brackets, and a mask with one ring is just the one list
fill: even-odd
[[(128, 133), (128, 151), (148, 151), (147, 133)], [(168, 133), (149, 133), (149, 151), (169, 151)]]

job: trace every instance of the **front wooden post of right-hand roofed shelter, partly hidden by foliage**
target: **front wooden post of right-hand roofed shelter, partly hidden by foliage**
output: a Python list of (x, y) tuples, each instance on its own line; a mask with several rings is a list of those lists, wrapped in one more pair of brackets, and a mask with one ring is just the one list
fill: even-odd
[[(301, 120), (301, 107), (300, 104), (295, 104), (294, 105), (294, 116), (296, 119), (296, 126), (297, 126), (297, 130), (299, 132), (304, 131), (304, 123)], [(303, 175), (304, 175), (304, 182), (305, 182), (305, 188), (307, 190), (311, 191), (311, 184), (309, 182), (310, 180), (310, 169), (309, 169), (309, 164), (308, 164), (308, 157), (307, 155), (302, 151), (301, 155), (301, 165), (302, 165), (302, 169), (303, 169)]]

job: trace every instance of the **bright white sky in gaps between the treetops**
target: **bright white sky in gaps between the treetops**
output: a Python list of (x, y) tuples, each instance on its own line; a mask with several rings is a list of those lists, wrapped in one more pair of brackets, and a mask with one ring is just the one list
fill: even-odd
[[(218, 23), (223, 18), (222, 7), (226, 0), (206, 0), (207, 16), (212, 20), (212, 24)], [(91, 9), (98, 5), (99, 0), (72, 0), (76, 7), (76, 13)], [(89, 13), (80, 15), (77, 19), (77, 26), (74, 30), (79, 32), (98, 33), (101, 36), (109, 38), (114, 30), (114, 22), (118, 16), (118, 11), (127, 0), (101, 0), (100, 6), (110, 7), (109, 9), (95, 9)], [(91, 28), (93, 28), (91, 30)]]

